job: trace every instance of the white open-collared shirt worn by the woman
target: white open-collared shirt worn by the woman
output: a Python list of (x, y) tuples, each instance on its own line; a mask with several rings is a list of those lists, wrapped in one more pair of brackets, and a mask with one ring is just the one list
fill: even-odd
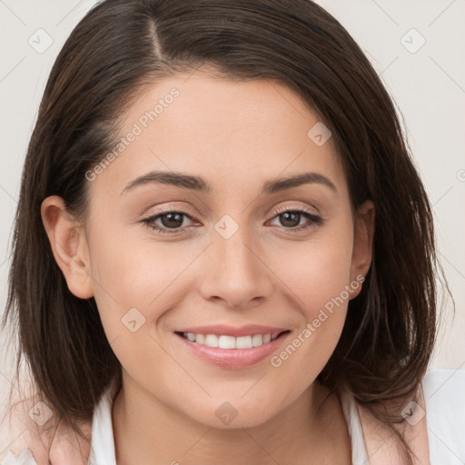
[[(423, 379), (431, 465), (465, 464), (465, 371), (432, 370)], [(94, 411), (88, 465), (116, 465), (112, 425), (114, 388)], [(369, 465), (361, 420), (353, 397), (341, 392), (342, 411), (351, 436), (352, 465)]]

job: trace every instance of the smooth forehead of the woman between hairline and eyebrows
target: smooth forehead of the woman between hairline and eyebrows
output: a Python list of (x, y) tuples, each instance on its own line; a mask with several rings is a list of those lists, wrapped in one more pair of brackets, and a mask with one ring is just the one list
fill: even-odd
[(99, 183), (121, 192), (133, 178), (163, 170), (202, 176), (213, 189), (234, 184), (251, 191), (302, 171), (344, 184), (331, 137), (321, 143), (325, 127), (276, 81), (178, 74), (145, 87), (121, 115), (116, 156)]

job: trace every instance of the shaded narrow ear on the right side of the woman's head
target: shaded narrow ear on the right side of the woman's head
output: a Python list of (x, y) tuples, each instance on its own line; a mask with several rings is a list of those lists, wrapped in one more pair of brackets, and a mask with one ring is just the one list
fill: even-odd
[[(353, 249), (351, 258), (351, 282), (361, 283), (361, 277), (367, 275), (371, 265), (372, 243), (374, 233), (374, 203), (365, 201), (358, 209), (355, 218)], [(361, 285), (350, 286), (351, 299), (359, 295)]]

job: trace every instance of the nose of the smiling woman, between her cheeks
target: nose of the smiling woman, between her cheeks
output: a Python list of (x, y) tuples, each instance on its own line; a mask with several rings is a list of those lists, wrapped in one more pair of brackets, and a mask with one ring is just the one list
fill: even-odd
[(271, 295), (272, 272), (262, 248), (251, 242), (245, 230), (240, 227), (229, 239), (213, 232), (213, 242), (203, 257), (200, 292), (205, 300), (246, 309)]

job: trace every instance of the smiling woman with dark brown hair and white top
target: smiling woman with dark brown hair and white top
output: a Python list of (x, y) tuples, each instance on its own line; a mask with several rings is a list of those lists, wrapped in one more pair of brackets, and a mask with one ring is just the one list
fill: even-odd
[(426, 424), (448, 408), (425, 377), (436, 267), (391, 99), (331, 15), (106, 0), (59, 54), (25, 161), (6, 313), (40, 400), (25, 447), (449, 460)]

